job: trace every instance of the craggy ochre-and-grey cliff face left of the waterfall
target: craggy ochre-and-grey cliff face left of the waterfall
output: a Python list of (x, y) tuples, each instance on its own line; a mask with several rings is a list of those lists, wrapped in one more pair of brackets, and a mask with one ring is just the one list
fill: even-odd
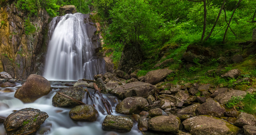
[(13, 78), (26, 79), (36, 73), (42, 75), (48, 41), (46, 10), (38, 9), (38, 16), (30, 17), (36, 28), (31, 34), (25, 33), (27, 14), (19, 11), (9, 2), (0, 8), (0, 71), (6, 71)]

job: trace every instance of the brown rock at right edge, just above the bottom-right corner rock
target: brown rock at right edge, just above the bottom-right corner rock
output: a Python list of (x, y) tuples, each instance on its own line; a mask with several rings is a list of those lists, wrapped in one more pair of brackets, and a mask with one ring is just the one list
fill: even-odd
[(256, 118), (254, 115), (241, 112), (237, 120), (234, 122), (234, 125), (238, 127), (243, 127), (244, 125), (256, 125)]

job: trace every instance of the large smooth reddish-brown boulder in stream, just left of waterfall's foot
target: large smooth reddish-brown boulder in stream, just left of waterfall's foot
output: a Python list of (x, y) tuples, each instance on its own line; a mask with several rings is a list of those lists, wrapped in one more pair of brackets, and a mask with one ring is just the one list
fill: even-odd
[(50, 82), (40, 75), (29, 75), (25, 83), (17, 89), (14, 97), (24, 103), (34, 102), (36, 99), (52, 91)]

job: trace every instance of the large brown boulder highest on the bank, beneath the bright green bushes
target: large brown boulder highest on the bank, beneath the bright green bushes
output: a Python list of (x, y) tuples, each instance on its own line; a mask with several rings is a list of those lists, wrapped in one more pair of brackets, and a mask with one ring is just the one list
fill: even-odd
[(149, 71), (145, 75), (145, 83), (151, 83), (151, 84), (159, 83), (164, 78), (166, 78), (167, 75), (169, 75), (170, 73), (173, 73), (173, 72), (174, 71), (172, 71), (168, 68)]

